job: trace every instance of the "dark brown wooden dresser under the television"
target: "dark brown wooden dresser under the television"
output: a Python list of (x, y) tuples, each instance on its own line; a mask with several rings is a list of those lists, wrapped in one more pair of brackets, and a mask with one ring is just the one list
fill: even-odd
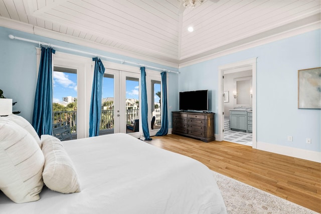
[(215, 140), (214, 113), (173, 111), (173, 134), (198, 138), (205, 142)]

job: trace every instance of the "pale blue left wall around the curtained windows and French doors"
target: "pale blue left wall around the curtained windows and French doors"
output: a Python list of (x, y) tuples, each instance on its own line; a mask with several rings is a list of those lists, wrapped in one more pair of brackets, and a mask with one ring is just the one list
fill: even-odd
[[(7, 98), (12, 98), (18, 103), (13, 107), (13, 111), (21, 111), (19, 114), (23, 116), (28, 121), (32, 122), (35, 91), (37, 85), (37, 55), (36, 47), (38, 44), (11, 40), (9, 35), (12, 34), (16, 37), (22, 37), (30, 40), (41, 41), (45, 43), (51, 43), (57, 46), (63, 46), (67, 48), (72, 48), (76, 50), (86, 51), (90, 53), (97, 53), (104, 56), (109, 56), (113, 58), (123, 59), (131, 62), (137, 62), (144, 65), (149, 65), (158, 68), (164, 68), (172, 71), (178, 71), (176, 68), (163, 66), (155, 63), (150, 63), (143, 60), (137, 60), (117, 54), (112, 54), (104, 52), (101, 50), (95, 50), (71, 43), (66, 43), (58, 40), (53, 40), (33, 34), (24, 33), (21, 31), (16, 31), (8, 28), (0, 27), (0, 89), (4, 91), (4, 95)], [(56, 51), (61, 51), (64, 53), (71, 53), (74, 55), (83, 54), (68, 52), (65, 50), (59, 50), (55, 48)], [(87, 56), (93, 57), (93, 56)], [(115, 63), (119, 63), (115, 61)], [(178, 74), (169, 73), (169, 106), (176, 107), (176, 99), (171, 99), (175, 97), (178, 91)], [(174, 104), (172, 104), (174, 102)], [(170, 118), (170, 122), (172, 118)]]

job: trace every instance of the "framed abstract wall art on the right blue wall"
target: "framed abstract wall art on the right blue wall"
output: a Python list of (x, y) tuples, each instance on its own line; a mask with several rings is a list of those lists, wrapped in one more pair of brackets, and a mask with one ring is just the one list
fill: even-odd
[(298, 70), (298, 108), (321, 109), (321, 68)]

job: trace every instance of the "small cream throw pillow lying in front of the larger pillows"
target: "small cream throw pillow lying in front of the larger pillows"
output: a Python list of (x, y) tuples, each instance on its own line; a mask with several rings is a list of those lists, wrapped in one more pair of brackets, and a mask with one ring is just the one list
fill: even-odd
[(48, 188), (62, 193), (80, 192), (75, 167), (62, 142), (51, 135), (41, 135), (45, 165), (42, 177)]

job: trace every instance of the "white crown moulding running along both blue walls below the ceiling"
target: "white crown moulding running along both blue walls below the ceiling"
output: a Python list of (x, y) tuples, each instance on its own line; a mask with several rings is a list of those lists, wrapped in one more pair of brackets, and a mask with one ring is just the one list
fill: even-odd
[[(4, 18), (4, 17), (0, 17), (0, 26), (5, 27), (5, 28), (9, 28), (9, 29), (14, 29), (14, 30), (18, 30), (18, 31), (23, 31), (26, 33), (30, 33), (30, 34), (34, 34), (34, 35), (39, 35), (39, 36), (43, 36), (43, 37), (47, 37), (47, 38), (52, 38), (55, 40), (60, 40), (60, 41), (64, 41), (64, 42), (68, 42), (68, 43), (73, 43), (76, 45), (80, 45), (80, 46), (84, 46), (84, 47), (90, 47), (90, 48), (94, 48), (97, 50), (102, 50), (102, 51), (108, 51), (110, 53), (114, 53), (114, 54), (119, 54), (119, 55), (123, 55), (123, 56), (127, 56), (127, 57), (131, 57), (131, 58), (135, 58), (135, 59), (140, 59), (140, 60), (145, 60), (145, 61), (149, 61), (149, 62), (153, 62), (153, 63), (157, 63), (157, 64), (161, 64), (164, 66), (169, 66), (172, 68), (184, 68), (186, 66), (190, 66), (190, 65), (194, 65), (197, 63), (201, 63), (204, 61), (208, 61), (211, 59), (215, 59), (218, 57), (222, 57), (228, 54), (232, 54), (235, 52), (239, 52), (242, 50), (246, 50), (249, 48), (253, 48), (253, 47), (257, 47), (260, 45), (264, 45), (270, 42), (274, 42), (274, 41), (278, 41), (281, 39), (285, 39), (285, 38), (289, 38), (292, 36), (296, 36), (299, 34), (303, 34), (306, 32), (310, 32), (313, 30), (317, 30), (320, 29), (320, 22), (316, 22), (316, 23), (312, 23), (310, 25), (306, 25), (303, 27), (299, 27), (296, 29), (292, 29), (286, 32), (282, 32), (267, 38), (263, 38), (260, 40), (256, 40), (244, 45), (240, 45), (228, 50), (224, 50), (218, 53), (214, 53), (211, 55), (208, 55), (206, 57), (201, 57), (198, 59), (194, 59), (194, 60), (189, 60), (188, 62), (184, 62), (184, 60), (178, 60), (178, 59), (172, 59), (175, 62), (169, 62), (169, 61), (165, 61), (165, 60), (159, 60), (159, 59), (155, 59), (155, 58), (151, 58), (151, 57), (147, 57), (147, 56), (143, 56), (143, 55), (139, 55), (137, 53), (131, 53), (128, 51), (123, 51), (120, 49), (116, 49), (110, 46), (106, 46), (106, 45), (102, 45), (102, 44), (97, 44), (95, 42), (92, 41), (88, 41), (88, 40), (84, 40), (81, 38), (75, 38), (73, 36), (70, 35), (65, 35), (65, 34), (61, 34), (59, 32), (55, 32), (55, 31), (51, 31), (48, 29), (43, 29), (37, 26), (33, 26), (30, 24), (26, 24), (26, 23), (22, 23), (19, 21), (15, 21), (15, 20), (11, 20), (8, 18)], [(176, 63), (177, 62), (177, 63)]]

